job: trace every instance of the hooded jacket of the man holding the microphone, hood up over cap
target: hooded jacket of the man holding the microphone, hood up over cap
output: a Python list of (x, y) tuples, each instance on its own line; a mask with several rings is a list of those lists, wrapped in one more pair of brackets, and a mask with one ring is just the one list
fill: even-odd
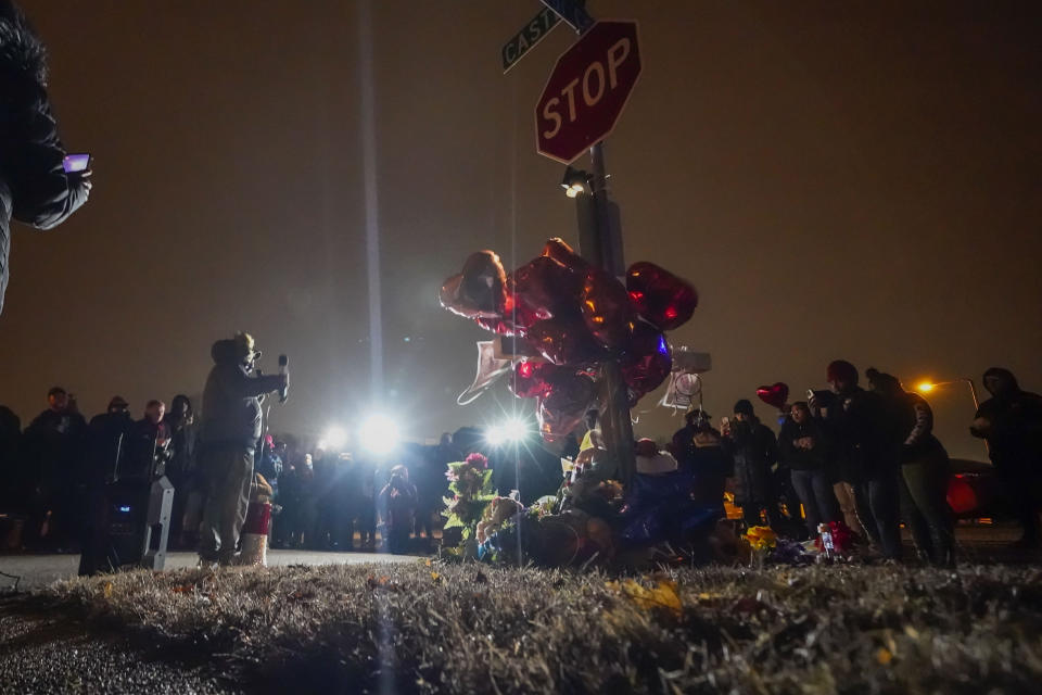
[(251, 375), (233, 340), (218, 340), (209, 354), (214, 367), (203, 390), (202, 445), (204, 448), (245, 447), (253, 452), (260, 439), (257, 396), (278, 390), (280, 378)]

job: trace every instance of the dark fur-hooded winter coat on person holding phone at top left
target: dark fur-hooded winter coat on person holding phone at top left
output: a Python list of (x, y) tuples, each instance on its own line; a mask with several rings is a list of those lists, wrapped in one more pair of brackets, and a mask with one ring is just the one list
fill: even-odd
[(0, 311), (11, 218), (51, 229), (87, 202), (82, 176), (62, 166), (66, 152), (47, 98), (46, 56), (22, 12), (0, 1)]

